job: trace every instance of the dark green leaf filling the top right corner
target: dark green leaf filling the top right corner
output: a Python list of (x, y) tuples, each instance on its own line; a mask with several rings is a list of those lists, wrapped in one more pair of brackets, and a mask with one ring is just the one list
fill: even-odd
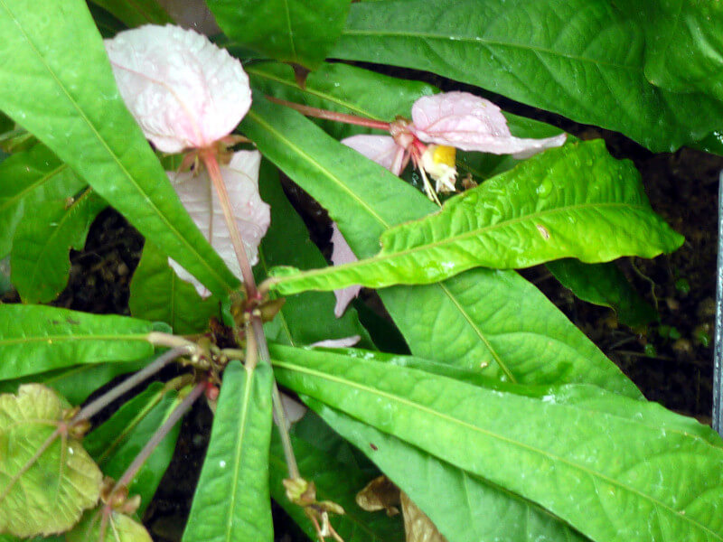
[(663, 89), (723, 100), (723, 7), (691, 0), (620, 5), (645, 33), (645, 77)]

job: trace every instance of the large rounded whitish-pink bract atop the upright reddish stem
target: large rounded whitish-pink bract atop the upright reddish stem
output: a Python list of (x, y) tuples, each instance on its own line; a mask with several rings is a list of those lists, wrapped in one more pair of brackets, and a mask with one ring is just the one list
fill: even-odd
[(148, 24), (105, 44), (128, 109), (164, 153), (210, 146), (249, 111), (241, 63), (199, 33)]

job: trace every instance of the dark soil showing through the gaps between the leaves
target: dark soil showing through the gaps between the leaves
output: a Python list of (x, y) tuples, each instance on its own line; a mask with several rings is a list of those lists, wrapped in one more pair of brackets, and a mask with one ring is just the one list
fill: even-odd
[[(544, 266), (526, 270), (524, 275), (634, 380), (645, 397), (709, 423), (718, 172), (723, 169), (723, 157), (689, 149), (652, 154), (622, 135), (500, 101), (512, 112), (556, 124), (580, 138), (603, 137), (611, 154), (634, 161), (653, 209), (685, 236), (684, 246), (670, 256), (619, 262), (634, 287), (660, 313), (660, 322), (641, 330), (618, 324), (610, 309), (577, 300)], [(298, 191), (287, 192), (306, 210), (314, 237), (328, 243), (324, 219)], [(55, 304), (90, 313), (127, 314), (130, 279), (142, 246), (141, 236), (122, 217), (113, 210), (104, 211), (90, 229), (86, 248), (71, 254), (70, 284)], [(3, 301), (17, 300), (11, 294)], [(146, 525), (156, 540), (180, 539), (210, 425), (211, 413), (205, 405), (196, 406), (183, 422), (171, 468), (146, 512)], [(276, 512), (277, 518), (283, 517), (283, 512)], [(295, 528), (288, 531), (282, 526), (287, 520), (279, 521), (277, 539), (303, 539)]]

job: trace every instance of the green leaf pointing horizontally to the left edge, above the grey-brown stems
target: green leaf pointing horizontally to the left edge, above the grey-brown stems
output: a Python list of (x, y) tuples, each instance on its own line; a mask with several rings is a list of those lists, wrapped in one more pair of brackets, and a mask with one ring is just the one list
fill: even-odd
[(0, 379), (79, 363), (148, 358), (151, 322), (40, 305), (0, 304)]

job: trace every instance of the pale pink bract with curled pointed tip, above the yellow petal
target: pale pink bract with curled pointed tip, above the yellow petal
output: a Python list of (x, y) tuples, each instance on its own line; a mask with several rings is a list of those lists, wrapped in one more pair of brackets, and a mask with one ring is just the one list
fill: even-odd
[(468, 92), (425, 96), (412, 107), (412, 133), (421, 141), (463, 151), (527, 157), (565, 143), (566, 134), (545, 139), (514, 137), (500, 107)]

